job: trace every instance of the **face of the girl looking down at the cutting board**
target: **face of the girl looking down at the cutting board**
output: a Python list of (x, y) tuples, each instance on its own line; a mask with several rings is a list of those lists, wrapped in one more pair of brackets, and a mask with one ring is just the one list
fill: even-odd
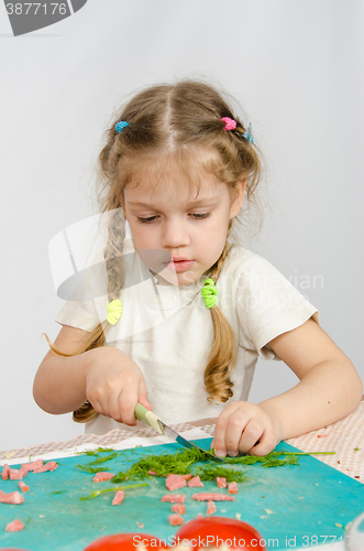
[(229, 220), (241, 209), (244, 184), (236, 184), (232, 197), (213, 174), (199, 176), (199, 188), (166, 175), (155, 185), (146, 174), (134, 177), (123, 192), (134, 248), (148, 268), (153, 262), (145, 260), (144, 249), (164, 251), (156, 252), (159, 269), (154, 271), (170, 283), (187, 285), (219, 259)]

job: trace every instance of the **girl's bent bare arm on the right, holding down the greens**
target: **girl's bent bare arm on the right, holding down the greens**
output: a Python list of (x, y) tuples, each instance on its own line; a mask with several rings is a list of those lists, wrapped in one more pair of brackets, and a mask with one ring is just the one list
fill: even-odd
[(258, 406), (227, 406), (213, 441), (220, 455), (265, 455), (280, 440), (339, 421), (361, 400), (363, 385), (354, 366), (312, 320), (274, 338), (269, 346), (300, 382)]

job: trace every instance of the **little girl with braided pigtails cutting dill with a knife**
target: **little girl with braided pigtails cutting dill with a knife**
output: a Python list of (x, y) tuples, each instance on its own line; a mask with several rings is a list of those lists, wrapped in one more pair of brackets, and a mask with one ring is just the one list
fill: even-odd
[[(216, 417), (216, 454), (235, 456), (265, 455), (359, 404), (361, 379), (317, 310), (232, 240), (261, 163), (217, 90), (180, 82), (137, 94), (99, 162), (103, 292), (90, 278), (87, 300), (58, 315), (34, 381), (42, 409), (74, 411), (98, 434), (135, 426), (136, 402), (167, 423)], [(282, 359), (299, 382), (256, 406), (246, 400), (258, 356)]]

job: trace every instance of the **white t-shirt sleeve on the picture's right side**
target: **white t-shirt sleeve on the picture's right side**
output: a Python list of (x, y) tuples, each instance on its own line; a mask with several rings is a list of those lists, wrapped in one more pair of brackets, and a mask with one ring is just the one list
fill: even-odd
[(240, 344), (264, 359), (280, 359), (268, 343), (302, 325), (319, 323), (318, 310), (267, 260), (254, 256), (239, 277)]

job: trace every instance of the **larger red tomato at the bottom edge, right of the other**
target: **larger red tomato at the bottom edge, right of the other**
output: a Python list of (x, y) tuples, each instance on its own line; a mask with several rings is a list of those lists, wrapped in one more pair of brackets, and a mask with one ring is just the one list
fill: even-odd
[[(179, 539), (178, 539), (179, 538)], [(241, 520), (225, 517), (202, 517), (187, 522), (175, 534), (177, 543), (188, 540), (192, 550), (220, 547), (266, 551), (265, 540), (255, 528)]]

